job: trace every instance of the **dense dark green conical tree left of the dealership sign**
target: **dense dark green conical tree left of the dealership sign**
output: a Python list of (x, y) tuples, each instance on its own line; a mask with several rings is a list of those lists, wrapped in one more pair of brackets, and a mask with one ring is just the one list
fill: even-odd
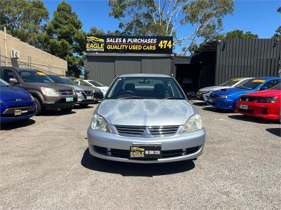
[(67, 60), (68, 71), (79, 76), (83, 69), (84, 31), (82, 22), (69, 3), (62, 1), (53, 13), (53, 20), (45, 26), (45, 50)]

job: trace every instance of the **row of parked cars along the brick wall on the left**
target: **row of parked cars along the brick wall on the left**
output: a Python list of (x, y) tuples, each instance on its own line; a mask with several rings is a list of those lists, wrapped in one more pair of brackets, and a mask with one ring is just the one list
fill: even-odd
[(0, 67), (0, 78), (1, 123), (28, 119), (46, 109), (70, 112), (75, 104), (85, 107), (102, 100), (105, 90), (79, 78), (34, 69)]

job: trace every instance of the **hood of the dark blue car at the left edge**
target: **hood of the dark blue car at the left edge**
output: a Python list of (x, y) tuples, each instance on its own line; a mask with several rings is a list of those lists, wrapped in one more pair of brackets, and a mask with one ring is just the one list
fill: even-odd
[(1, 87), (0, 88), (1, 101), (13, 99), (31, 99), (30, 94), (19, 87)]

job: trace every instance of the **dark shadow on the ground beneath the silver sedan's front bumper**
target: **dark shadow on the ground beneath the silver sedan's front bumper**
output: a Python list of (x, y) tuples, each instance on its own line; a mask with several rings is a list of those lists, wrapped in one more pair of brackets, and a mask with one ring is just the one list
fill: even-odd
[(84, 152), (81, 165), (98, 172), (148, 177), (187, 172), (195, 167), (192, 160), (148, 165), (101, 160), (93, 157), (89, 153), (89, 148)]

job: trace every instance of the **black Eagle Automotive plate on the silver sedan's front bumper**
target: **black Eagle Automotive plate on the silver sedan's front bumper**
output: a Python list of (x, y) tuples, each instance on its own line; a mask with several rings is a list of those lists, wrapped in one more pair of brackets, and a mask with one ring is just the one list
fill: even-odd
[(133, 145), (130, 146), (130, 158), (161, 158), (162, 146), (160, 145)]

